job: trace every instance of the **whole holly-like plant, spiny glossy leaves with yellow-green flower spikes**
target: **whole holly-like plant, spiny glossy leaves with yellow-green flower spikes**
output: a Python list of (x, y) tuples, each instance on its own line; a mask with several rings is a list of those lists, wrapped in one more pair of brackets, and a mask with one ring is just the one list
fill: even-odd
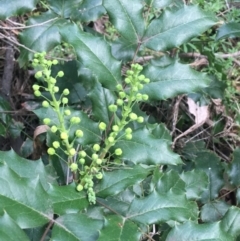
[[(0, 236), (236, 240), (240, 150), (223, 163), (198, 141), (179, 155), (166, 125), (147, 111), (181, 94), (211, 95), (210, 75), (168, 53), (215, 38), (206, 33), (217, 18), (174, 0), (36, 4), (11, 3), (0, 18), (28, 14), (18, 62), (35, 72), (32, 88), (41, 105), (33, 112), (46, 128), (47, 158), (0, 153)], [(106, 15), (106, 31), (91, 27)], [(220, 27), (217, 39), (232, 36), (237, 24)], [(155, 58), (146, 62), (149, 52)], [(8, 107), (2, 102), (1, 108)], [(1, 119), (4, 127), (7, 117)], [(219, 196), (222, 189), (236, 191), (236, 206)]]

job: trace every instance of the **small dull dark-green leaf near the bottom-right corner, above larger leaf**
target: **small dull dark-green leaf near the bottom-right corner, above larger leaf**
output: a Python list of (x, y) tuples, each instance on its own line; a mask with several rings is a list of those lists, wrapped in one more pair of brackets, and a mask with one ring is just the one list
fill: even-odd
[(230, 206), (223, 201), (206, 203), (201, 208), (201, 220), (204, 223), (219, 221), (228, 211), (229, 207)]

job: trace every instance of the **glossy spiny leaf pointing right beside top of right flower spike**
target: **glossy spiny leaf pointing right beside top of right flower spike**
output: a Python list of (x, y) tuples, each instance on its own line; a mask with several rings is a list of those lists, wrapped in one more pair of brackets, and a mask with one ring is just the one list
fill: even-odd
[(163, 100), (199, 91), (210, 84), (210, 78), (206, 74), (177, 62), (165, 68), (148, 65), (143, 74), (151, 82), (144, 85), (142, 92), (148, 94), (152, 100)]

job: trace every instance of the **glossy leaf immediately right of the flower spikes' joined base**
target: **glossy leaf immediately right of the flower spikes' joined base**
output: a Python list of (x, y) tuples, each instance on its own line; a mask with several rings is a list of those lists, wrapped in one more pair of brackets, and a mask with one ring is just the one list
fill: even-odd
[(95, 187), (98, 197), (106, 198), (141, 182), (149, 174), (149, 170), (141, 166), (126, 167), (125, 169), (105, 172), (103, 179)]

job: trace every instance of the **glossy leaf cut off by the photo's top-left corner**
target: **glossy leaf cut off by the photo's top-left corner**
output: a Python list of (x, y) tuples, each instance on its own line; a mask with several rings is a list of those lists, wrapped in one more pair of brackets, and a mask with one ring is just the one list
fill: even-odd
[(33, 10), (38, 0), (0, 0), (0, 19), (17, 16)]

